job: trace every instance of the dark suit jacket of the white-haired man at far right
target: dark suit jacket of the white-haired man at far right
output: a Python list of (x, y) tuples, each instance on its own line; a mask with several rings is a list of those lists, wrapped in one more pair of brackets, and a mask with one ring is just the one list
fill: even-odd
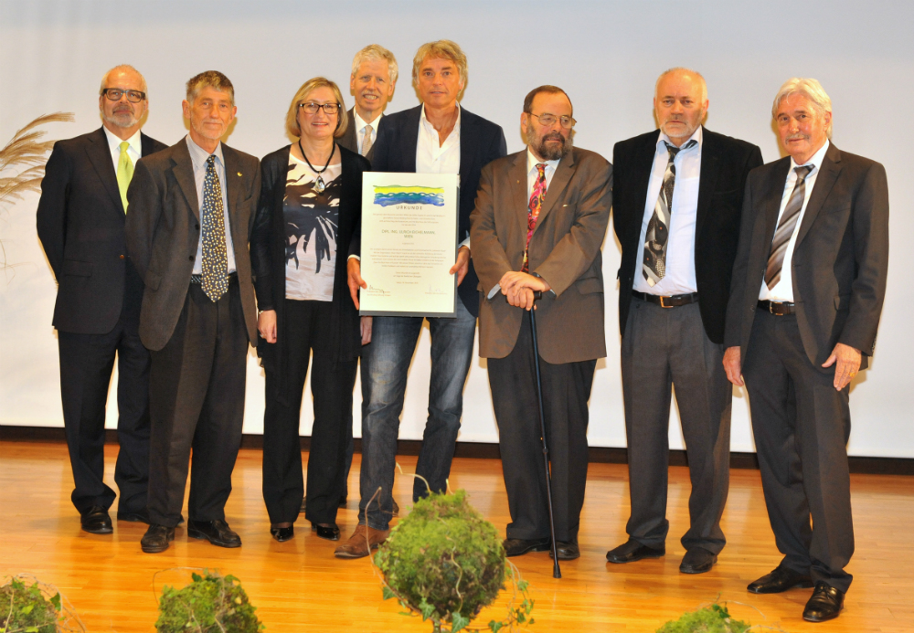
[[(781, 211), (787, 156), (749, 174), (727, 310), (728, 347), (745, 362), (759, 290)], [(784, 262), (788, 265), (788, 262)], [(822, 364), (835, 343), (873, 354), (888, 271), (886, 169), (831, 143), (816, 176), (793, 249), (793, 301), (803, 349)]]

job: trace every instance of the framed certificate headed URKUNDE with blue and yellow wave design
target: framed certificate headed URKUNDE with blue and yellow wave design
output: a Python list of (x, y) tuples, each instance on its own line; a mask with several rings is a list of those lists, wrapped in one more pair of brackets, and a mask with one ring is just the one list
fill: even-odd
[(360, 314), (454, 316), (458, 178), (363, 174)]

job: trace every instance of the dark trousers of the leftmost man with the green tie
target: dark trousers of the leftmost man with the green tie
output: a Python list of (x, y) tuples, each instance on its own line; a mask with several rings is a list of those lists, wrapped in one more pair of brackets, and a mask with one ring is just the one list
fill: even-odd
[(60, 396), (73, 467), (73, 505), (110, 508), (115, 494), (104, 475), (105, 405), (114, 357), (118, 362), (118, 451), (114, 481), (121, 492), (118, 512), (146, 512), (149, 480), (149, 352), (136, 320), (122, 313), (107, 334), (58, 332)]

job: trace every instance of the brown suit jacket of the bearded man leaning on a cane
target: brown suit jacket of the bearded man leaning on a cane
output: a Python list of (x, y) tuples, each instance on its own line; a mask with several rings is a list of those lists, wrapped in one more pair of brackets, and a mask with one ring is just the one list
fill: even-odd
[[(486, 165), (470, 216), (473, 265), (479, 274), (479, 355), (514, 349), (524, 311), (489, 292), (505, 272), (520, 270), (527, 233), (526, 149)], [(612, 165), (574, 148), (558, 164), (530, 239), (529, 269), (552, 290), (537, 301), (537, 338), (547, 363), (606, 355), (600, 246), (612, 206)]]

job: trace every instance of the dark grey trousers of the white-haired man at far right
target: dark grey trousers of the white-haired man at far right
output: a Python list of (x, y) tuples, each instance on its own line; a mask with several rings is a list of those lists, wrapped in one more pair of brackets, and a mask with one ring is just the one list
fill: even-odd
[[(757, 311), (743, 376), (781, 567), (847, 591), (854, 554), (847, 439), (849, 387), (803, 350), (796, 315)], [(812, 526), (810, 519), (812, 518)]]

